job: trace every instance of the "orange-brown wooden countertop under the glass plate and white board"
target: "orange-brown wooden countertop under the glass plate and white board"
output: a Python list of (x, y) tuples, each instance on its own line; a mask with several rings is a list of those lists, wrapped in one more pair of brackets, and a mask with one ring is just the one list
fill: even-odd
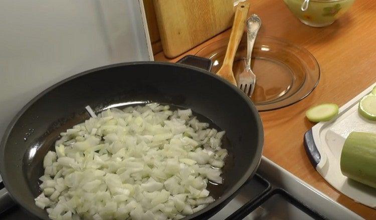
[[(306, 98), (260, 113), (265, 130), (263, 154), (362, 217), (376, 219), (375, 209), (358, 204), (331, 187), (312, 167), (303, 148), (303, 134), (314, 125), (305, 118), (308, 107), (323, 102), (341, 106), (376, 81), (376, 1), (357, 0), (341, 18), (321, 28), (301, 23), (282, 0), (250, 2), (250, 13), (257, 13), (263, 22), (259, 34), (282, 37), (307, 48), (321, 68), (318, 86)], [(176, 61), (229, 34), (229, 30), (220, 33), (174, 59), (166, 58), (162, 52), (154, 58)]]

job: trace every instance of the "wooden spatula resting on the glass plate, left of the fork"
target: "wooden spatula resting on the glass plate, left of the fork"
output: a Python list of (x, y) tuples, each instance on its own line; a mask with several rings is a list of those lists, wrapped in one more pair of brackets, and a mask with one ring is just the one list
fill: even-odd
[(237, 84), (236, 84), (236, 80), (235, 80), (234, 72), (233, 72), (233, 63), (234, 63), (236, 50), (238, 50), (240, 40), (242, 39), (242, 36), (243, 36), (248, 9), (249, 9), (249, 3), (246, 1), (240, 2), (236, 8), (234, 23), (231, 29), (230, 41), (229, 41), (229, 44), (227, 45), (225, 59), (223, 60), (223, 64), (220, 70), (218, 70), (217, 72), (218, 75), (227, 79), (234, 85), (237, 85)]

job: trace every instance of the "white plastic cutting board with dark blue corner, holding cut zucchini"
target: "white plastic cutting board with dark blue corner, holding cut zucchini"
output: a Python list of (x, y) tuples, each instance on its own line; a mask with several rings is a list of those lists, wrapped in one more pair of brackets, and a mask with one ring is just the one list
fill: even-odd
[(350, 132), (376, 133), (376, 121), (367, 120), (358, 112), (360, 99), (369, 94), (375, 85), (376, 83), (372, 84), (340, 107), (336, 118), (312, 127), (312, 137), (321, 156), (316, 170), (338, 191), (372, 208), (376, 208), (376, 188), (344, 176), (340, 170), (340, 155)]

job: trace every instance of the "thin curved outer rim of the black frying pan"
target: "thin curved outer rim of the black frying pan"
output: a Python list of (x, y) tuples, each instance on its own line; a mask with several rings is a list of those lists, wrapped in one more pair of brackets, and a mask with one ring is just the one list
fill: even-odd
[(132, 62), (120, 62), (120, 63), (104, 65), (104, 66), (92, 68), (92, 69), (74, 74), (70, 77), (67, 77), (67, 78), (49, 86), (48, 88), (44, 89), (42, 92), (40, 92), (38, 95), (36, 95), (33, 99), (28, 101), (18, 111), (18, 113), (13, 117), (13, 119), (11, 120), (11, 122), (9, 123), (9, 125), (7, 126), (7, 128), (4, 132), (3, 137), (2, 137), (2, 141), (0, 143), (0, 173), (3, 176), (4, 186), (7, 188), (9, 195), (12, 197), (12, 199), (16, 203), (20, 204), (28, 212), (32, 213), (33, 215), (35, 215), (39, 218), (43, 219), (45, 217), (43, 215), (40, 215), (38, 212), (33, 211), (33, 209), (30, 207), (28, 202), (26, 202), (22, 198), (21, 195), (16, 194), (16, 196), (15, 196), (14, 194), (12, 194), (12, 191), (16, 191), (17, 188), (13, 188), (13, 186), (10, 185), (10, 183), (9, 183), (10, 173), (4, 168), (5, 167), (4, 153), (5, 153), (5, 149), (6, 149), (6, 143), (8, 142), (8, 137), (9, 137), (14, 125), (19, 120), (19, 118), (25, 113), (25, 111), (27, 111), (32, 104), (34, 104), (38, 99), (40, 99), (42, 96), (47, 94), (49, 91), (53, 90), (54, 88), (58, 87), (59, 85), (61, 85), (63, 83), (66, 83), (70, 80), (73, 80), (77, 77), (80, 77), (80, 76), (83, 76), (83, 75), (86, 75), (86, 74), (90, 74), (90, 73), (95, 72), (95, 71), (112, 68), (112, 67), (128, 66), (128, 65), (145, 65), (145, 64), (148, 64), (148, 65), (150, 65), (150, 64), (151, 65), (167, 65), (167, 66), (187, 68), (187, 69), (190, 69), (190, 70), (199, 71), (203, 74), (209, 75), (209, 76), (213, 77), (214, 80), (220, 80), (222, 83), (229, 86), (233, 91), (235, 91), (247, 103), (247, 105), (250, 108), (250, 110), (252, 111), (252, 113), (254, 115), (256, 115), (255, 121), (256, 121), (256, 126), (259, 130), (259, 133), (258, 133), (257, 143), (256, 143), (256, 146), (255, 146), (256, 147), (256, 152), (255, 152), (255, 157), (254, 157), (255, 159), (251, 162), (247, 171), (243, 174), (242, 178), (240, 178), (237, 181), (236, 184), (231, 186), (230, 189), (226, 193), (224, 193), (220, 198), (216, 199), (213, 203), (209, 204), (204, 209), (202, 209), (198, 212), (195, 212), (191, 215), (187, 215), (186, 217), (183, 218), (183, 220), (197, 218), (201, 214), (209, 212), (212, 209), (215, 210), (215, 211), (219, 211), (220, 209), (217, 208), (218, 209), (217, 210), (216, 207), (218, 207), (220, 204), (224, 204), (225, 202), (227, 203), (227, 202), (230, 201), (229, 198), (231, 198), (232, 195), (234, 195), (234, 193), (239, 191), (239, 189), (246, 182), (246, 180), (248, 178), (250, 178), (256, 172), (256, 170), (257, 170), (257, 168), (260, 164), (260, 161), (261, 161), (261, 156), (262, 156), (262, 151), (263, 151), (263, 143), (264, 143), (264, 129), (263, 129), (263, 124), (262, 124), (259, 112), (256, 109), (256, 106), (253, 104), (251, 99), (243, 91), (241, 91), (238, 87), (236, 87), (232, 83), (228, 82), (226, 79), (223, 79), (222, 77), (220, 77), (216, 74), (213, 74), (212, 72), (210, 72), (208, 70), (205, 70), (205, 69), (202, 69), (202, 68), (199, 68), (199, 67), (195, 67), (195, 66), (191, 66), (191, 65), (182, 64), (182, 63), (169, 63), (169, 62), (160, 62), (160, 61), (132, 61)]

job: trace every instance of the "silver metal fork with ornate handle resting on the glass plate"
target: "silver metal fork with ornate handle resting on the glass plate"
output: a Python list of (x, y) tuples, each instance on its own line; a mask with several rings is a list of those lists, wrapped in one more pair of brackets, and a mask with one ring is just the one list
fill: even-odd
[(261, 19), (257, 14), (252, 14), (247, 19), (247, 59), (245, 69), (238, 74), (238, 87), (249, 97), (252, 96), (256, 85), (256, 75), (251, 69), (252, 49), (255, 44), (257, 32), (261, 26)]

